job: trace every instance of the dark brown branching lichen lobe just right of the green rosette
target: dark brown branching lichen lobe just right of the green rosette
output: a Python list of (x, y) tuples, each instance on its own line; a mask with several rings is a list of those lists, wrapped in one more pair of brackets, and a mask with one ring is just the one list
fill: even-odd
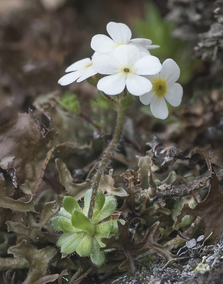
[(125, 254), (127, 260), (119, 266), (119, 269), (126, 269), (129, 271), (131, 276), (134, 276), (137, 269), (134, 265), (132, 256), (137, 255), (140, 251), (149, 248), (154, 249), (159, 256), (164, 257), (166, 262), (170, 259), (178, 257), (170, 252), (174, 245), (162, 246), (153, 240), (159, 222), (156, 222), (151, 228), (147, 229), (145, 237), (140, 242), (131, 242), (129, 240), (128, 225), (129, 222), (125, 222), (125, 224), (122, 225), (118, 221), (118, 239), (115, 238), (115, 234), (113, 234), (109, 239), (101, 238), (101, 241), (106, 244), (106, 247), (103, 249), (115, 248), (117, 250), (121, 250)]

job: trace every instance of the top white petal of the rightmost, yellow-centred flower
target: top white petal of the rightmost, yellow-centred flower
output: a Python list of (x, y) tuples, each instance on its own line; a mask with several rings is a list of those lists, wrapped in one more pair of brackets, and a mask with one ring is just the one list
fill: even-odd
[(167, 80), (167, 84), (175, 83), (180, 77), (180, 68), (177, 63), (168, 58), (164, 61), (162, 69), (160, 71), (160, 78)]

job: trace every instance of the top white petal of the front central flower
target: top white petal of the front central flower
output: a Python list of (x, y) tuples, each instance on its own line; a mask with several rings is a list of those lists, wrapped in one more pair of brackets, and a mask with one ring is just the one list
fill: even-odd
[(114, 56), (122, 66), (133, 66), (141, 58), (139, 49), (127, 44), (119, 45), (114, 51)]

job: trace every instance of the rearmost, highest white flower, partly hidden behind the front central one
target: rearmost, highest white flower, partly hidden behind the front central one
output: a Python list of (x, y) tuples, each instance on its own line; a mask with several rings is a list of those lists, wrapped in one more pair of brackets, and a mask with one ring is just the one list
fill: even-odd
[(141, 52), (146, 52), (150, 55), (148, 49), (160, 47), (159, 45), (151, 45), (152, 41), (150, 39), (131, 39), (131, 30), (123, 23), (108, 23), (107, 32), (112, 39), (104, 34), (97, 34), (92, 37), (91, 48), (93, 50), (107, 53), (114, 51), (121, 44), (129, 44), (135, 45)]

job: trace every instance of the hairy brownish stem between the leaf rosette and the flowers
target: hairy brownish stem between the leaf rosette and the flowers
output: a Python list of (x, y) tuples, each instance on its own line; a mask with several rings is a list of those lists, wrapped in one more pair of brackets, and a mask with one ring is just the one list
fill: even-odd
[(117, 110), (117, 123), (114, 131), (114, 137), (112, 141), (109, 143), (109, 146), (104, 152), (103, 158), (99, 164), (99, 168), (97, 170), (97, 173), (95, 175), (95, 180), (92, 186), (92, 194), (91, 194), (91, 202), (87, 214), (88, 219), (92, 219), (94, 207), (95, 207), (95, 200), (96, 200), (96, 195), (98, 191), (98, 185), (101, 179), (101, 176), (104, 173), (104, 170), (106, 166), (109, 163), (109, 158), (111, 157), (112, 152), (114, 151), (116, 145), (119, 143), (120, 136), (122, 134), (122, 127), (123, 127), (123, 117), (124, 117), (124, 109), (119, 106)]

